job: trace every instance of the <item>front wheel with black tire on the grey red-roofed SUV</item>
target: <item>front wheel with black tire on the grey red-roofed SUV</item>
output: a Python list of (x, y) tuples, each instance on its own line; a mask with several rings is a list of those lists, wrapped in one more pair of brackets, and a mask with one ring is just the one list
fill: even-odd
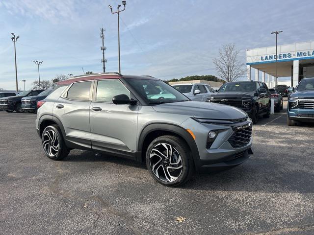
[[(168, 155), (170, 149), (171, 156)], [(163, 155), (159, 153), (163, 153)], [(192, 177), (194, 171), (193, 157), (187, 143), (181, 138), (171, 135), (160, 136), (150, 143), (146, 151), (146, 165), (152, 177), (159, 184), (168, 187), (183, 185)], [(182, 167), (180, 167), (181, 165)], [(174, 169), (173, 167), (180, 168)], [(153, 169), (159, 177), (153, 172)]]

